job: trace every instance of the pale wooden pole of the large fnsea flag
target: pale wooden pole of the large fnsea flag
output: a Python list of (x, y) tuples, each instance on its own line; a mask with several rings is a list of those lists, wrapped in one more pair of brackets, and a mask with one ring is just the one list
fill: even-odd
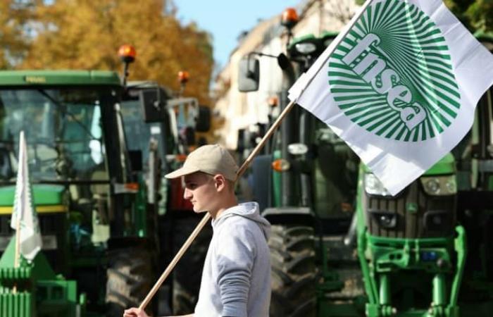
[[(257, 144), (254, 151), (251, 151), (250, 155), (246, 158), (246, 160), (244, 161), (244, 163), (242, 164), (242, 166), (238, 169), (238, 171), (236, 173), (237, 174), (236, 175), (237, 180), (238, 180), (238, 178), (240, 178), (243, 175), (243, 173), (245, 172), (246, 168), (248, 168), (251, 161), (258, 154), (258, 152), (263, 148), (263, 146), (266, 144), (266, 142), (270, 138), (270, 136), (273, 135), (275, 129), (280, 125), (282, 120), (284, 120), (284, 118), (287, 116), (287, 113), (289, 113), (289, 111), (291, 111), (294, 104), (295, 104), (294, 101), (291, 101), (291, 102), (289, 102), (289, 104), (287, 104), (287, 106), (284, 108), (282, 113), (280, 113), (279, 117), (277, 117), (277, 119), (275, 120), (273, 125), (266, 132), (266, 135), (264, 135), (263, 138), (261, 139), (261, 141)], [(157, 280), (156, 284), (154, 284), (154, 286), (152, 287), (149, 294), (147, 294), (144, 301), (142, 301), (142, 304), (140, 304), (139, 309), (141, 311), (146, 309), (146, 306), (149, 304), (149, 302), (151, 302), (151, 299), (152, 299), (152, 297), (154, 297), (154, 294), (156, 294), (156, 292), (159, 290), (159, 287), (161, 286), (161, 284), (163, 284), (163, 282), (166, 280), (166, 278), (168, 278), (168, 275), (170, 275), (171, 271), (173, 271), (173, 268), (175, 268), (176, 263), (178, 263), (178, 261), (180, 261), (183, 254), (185, 254), (185, 251), (187, 251), (187, 249), (190, 247), (190, 244), (192, 244), (192, 242), (194, 242), (196, 236), (199, 235), (199, 232), (202, 230), (202, 228), (204, 228), (204, 225), (206, 225), (206, 223), (208, 222), (209, 219), (211, 219), (211, 214), (206, 213), (206, 216), (204, 216), (204, 218), (202, 218), (200, 223), (196, 226), (196, 228), (194, 229), (192, 234), (188, 237), (187, 241), (185, 241), (183, 246), (177, 252), (177, 254), (173, 258), (173, 260), (170, 262), (170, 264), (168, 265), (166, 270), (163, 272), (161, 277)]]

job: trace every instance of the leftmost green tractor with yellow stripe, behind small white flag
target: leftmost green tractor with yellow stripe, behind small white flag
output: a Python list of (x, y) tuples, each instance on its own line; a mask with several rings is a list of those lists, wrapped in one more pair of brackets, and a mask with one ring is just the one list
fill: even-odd
[[(127, 149), (123, 90), (113, 72), (0, 72), (1, 316), (121, 316), (151, 289), (157, 204)], [(43, 248), (14, 267), (21, 130)]]

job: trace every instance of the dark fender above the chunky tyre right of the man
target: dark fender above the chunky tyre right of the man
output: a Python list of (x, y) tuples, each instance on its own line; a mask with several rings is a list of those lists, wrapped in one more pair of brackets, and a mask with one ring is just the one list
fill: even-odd
[(316, 225), (316, 217), (313, 210), (308, 207), (275, 207), (267, 208), (262, 212), (262, 216), (266, 218), (271, 225), (278, 224), (299, 224), (314, 227)]

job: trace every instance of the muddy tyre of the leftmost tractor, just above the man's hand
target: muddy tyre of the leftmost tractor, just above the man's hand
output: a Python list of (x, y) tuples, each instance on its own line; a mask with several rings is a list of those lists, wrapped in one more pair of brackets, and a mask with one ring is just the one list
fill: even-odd
[[(154, 261), (147, 249), (127, 248), (108, 252), (106, 316), (121, 317), (138, 307), (155, 282)], [(149, 307), (152, 307), (149, 304)], [(154, 313), (146, 309), (147, 313)]]

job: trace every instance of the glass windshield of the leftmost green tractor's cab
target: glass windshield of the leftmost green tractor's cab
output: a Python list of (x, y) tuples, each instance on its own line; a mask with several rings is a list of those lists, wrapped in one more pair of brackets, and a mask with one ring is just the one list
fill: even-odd
[(0, 89), (0, 178), (13, 180), (25, 131), (30, 177), (90, 180), (105, 170), (97, 89)]

